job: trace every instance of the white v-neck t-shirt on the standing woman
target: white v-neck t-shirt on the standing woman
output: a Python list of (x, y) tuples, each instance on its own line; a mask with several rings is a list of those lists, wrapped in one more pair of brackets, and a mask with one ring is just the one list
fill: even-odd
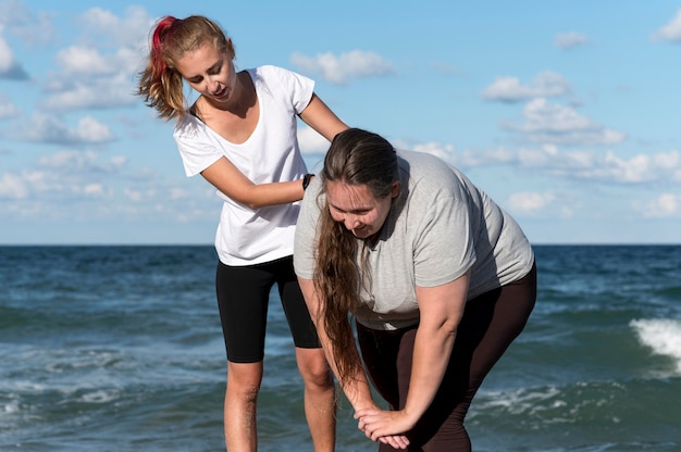
[[(232, 143), (187, 112), (173, 134), (187, 176), (225, 156), (253, 184), (300, 179), (306, 164), (298, 149), (297, 115), (312, 99), (314, 83), (276, 66), (248, 70), (260, 108), (258, 125), (240, 145)], [(215, 249), (226, 265), (270, 262), (293, 253), (300, 203), (252, 210), (222, 192)]]

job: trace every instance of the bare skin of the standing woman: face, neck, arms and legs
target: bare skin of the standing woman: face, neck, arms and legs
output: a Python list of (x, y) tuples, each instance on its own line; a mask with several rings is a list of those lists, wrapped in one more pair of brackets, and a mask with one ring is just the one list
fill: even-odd
[[(248, 72), (237, 73), (234, 51), (205, 43), (186, 52), (175, 68), (200, 96), (190, 109), (214, 133), (232, 143), (244, 143), (260, 120), (258, 93)], [(299, 117), (331, 140), (347, 126), (312, 96)], [(276, 151), (276, 148), (274, 148)], [(228, 159), (221, 158), (201, 172), (210, 184), (249, 209), (295, 202), (302, 197), (301, 181), (253, 184)], [(321, 349), (296, 348), (296, 362), (305, 384), (305, 414), (315, 451), (334, 450), (335, 388)], [(257, 397), (263, 362), (227, 362), (224, 400), (224, 435), (227, 450), (257, 450)]]

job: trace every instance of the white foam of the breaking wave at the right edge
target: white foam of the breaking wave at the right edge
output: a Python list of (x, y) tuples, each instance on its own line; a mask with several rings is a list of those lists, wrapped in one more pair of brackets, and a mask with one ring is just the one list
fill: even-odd
[(631, 321), (639, 341), (653, 349), (655, 354), (672, 357), (681, 373), (681, 321), (670, 318), (643, 318)]

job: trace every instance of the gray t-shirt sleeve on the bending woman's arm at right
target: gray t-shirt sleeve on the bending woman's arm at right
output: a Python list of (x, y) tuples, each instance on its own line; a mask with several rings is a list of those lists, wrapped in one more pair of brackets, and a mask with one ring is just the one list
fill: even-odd
[(413, 250), (417, 286), (451, 282), (473, 266), (475, 249), (470, 225), (469, 206), (456, 197), (441, 198), (428, 209)]

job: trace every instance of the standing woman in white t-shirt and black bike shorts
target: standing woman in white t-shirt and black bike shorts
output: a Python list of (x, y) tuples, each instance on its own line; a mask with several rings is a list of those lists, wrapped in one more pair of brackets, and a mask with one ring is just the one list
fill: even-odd
[[(154, 26), (138, 95), (174, 138), (187, 176), (200, 174), (223, 201), (215, 234), (216, 294), (227, 353), (224, 401), (230, 451), (257, 450), (270, 288), (277, 285), (305, 384), (317, 451), (335, 442), (333, 379), (293, 271), (299, 203), (310, 183), (296, 120), (331, 140), (346, 125), (307, 77), (276, 66), (236, 71), (234, 45), (203, 16), (166, 16)], [(184, 86), (198, 98), (187, 105)]]

